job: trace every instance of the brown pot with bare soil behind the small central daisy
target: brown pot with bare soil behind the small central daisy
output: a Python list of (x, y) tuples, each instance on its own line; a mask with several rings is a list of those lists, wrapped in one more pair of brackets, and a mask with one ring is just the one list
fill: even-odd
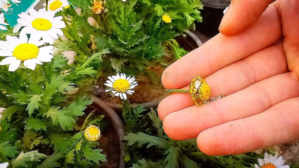
[[(182, 48), (184, 48), (187, 51), (192, 51), (198, 48), (200, 45), (202, 45), (202, 40), (199, 39), (195, 33), (189, 30), (185, 30), (184, 33), (187, 35), (186, 37), (176, 37), (176, 41)], [(136, 108), (136, 106), (138, 105), (142, 105), (145, 108), (153, 109), (156, 109), (158, 107), (159, 102), (167, 96), (167, 94), (164, 92), (164, 87), (162, 86), (160, 81), (164, 69), (165, 67), (161, 65), (153, 65), (147, 68), (147, 70), (156, 73), (156, 76), (158, 76), (156, 79), (154, 79), (158, 80), (158, 88), (150, 84), (150, 79), (148, 79), (149, 77), (144, 77), (143, 75), (136, 76), (139, 85), (135, 88), (135, 93), (132, 96), (128, 95), (128, 99), (130, 100), (130, 102), (133, 102), (132, 108)], [(94, 89), (94, 95), (96, 95), (97, 97), (101, 97), (103, 100), (105, 100), (106, 104), (112, 107), (116, 112), (122, 112), (121, 100), (119, 98), (114, 99), (113, 97), (105, 93), (105, 88), (97, 86)], [(150, 100), (147, 99), (147, 97), (152, 98), (150, 98)]]

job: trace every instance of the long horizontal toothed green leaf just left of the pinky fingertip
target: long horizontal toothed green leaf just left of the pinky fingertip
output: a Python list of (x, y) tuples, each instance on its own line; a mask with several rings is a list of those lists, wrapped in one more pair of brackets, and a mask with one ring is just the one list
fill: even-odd
[(134, 143), (138, 143), (138, 147), (140, 147), (143, 144), (149, 143), (147, 147), (149, 146), (157, 146), (158, 148), (162, 149), (169, 149), (170, 148), (170, 142), (167, 140), (164, 140), (162, 138), (153, 137), (147, 134), (144, 134), (143, 132), (138, 132), (137, 134), (129, 133), (127, 136), (123, 138), (124, 140), (128, 140), (128, 145), (131, 146)]

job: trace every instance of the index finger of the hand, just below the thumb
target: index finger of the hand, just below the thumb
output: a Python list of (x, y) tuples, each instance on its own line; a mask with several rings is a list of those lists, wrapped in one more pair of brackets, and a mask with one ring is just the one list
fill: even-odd
[(278, 18), (275, 7), (270, 5), (260, 19), (242, 33), (235, 36), (218, 34), (213, 37), (166, 68), (162, 74), (164, 87), (183, 88), (197, 75), (205, 78), (278, 41), (282, 37)]

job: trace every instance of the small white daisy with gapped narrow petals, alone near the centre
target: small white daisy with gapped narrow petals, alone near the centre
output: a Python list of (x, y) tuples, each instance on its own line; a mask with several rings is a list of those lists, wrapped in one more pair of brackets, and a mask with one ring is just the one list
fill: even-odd
[(132, 95), (135, 91), (131, 89), (138, 85), (137, 81), (135, 81), (135, 76), (126, 77), (126, 74), (118, 73), (115, 76), (109, 76), (108, 79), (104, 85), (110, 87), (110, 89), (106, 90), (106, 92), (112, 91), (115, 96), (119, 96), (124, 100), (127, 99), (126, 93)]

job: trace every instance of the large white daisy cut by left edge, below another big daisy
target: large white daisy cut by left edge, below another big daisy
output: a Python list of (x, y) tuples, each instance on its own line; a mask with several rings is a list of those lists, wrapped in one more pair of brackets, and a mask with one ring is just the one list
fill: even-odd
[(42, 65), (42, 62), (51, 62), (54, 53), (53, 46), (45, 46), (45, 42), (40, 40), (39, 36), (30, 35), (28, 40), (26, 34), (20, 34), (20, 37), (6, 36), (7, 41), (0, 41), (0, 56), (6, 56), (0, 65), (8, 65), (9, 71), (16, 71), (21, 62), (25, 67), (34, 70), (36, 64)]

